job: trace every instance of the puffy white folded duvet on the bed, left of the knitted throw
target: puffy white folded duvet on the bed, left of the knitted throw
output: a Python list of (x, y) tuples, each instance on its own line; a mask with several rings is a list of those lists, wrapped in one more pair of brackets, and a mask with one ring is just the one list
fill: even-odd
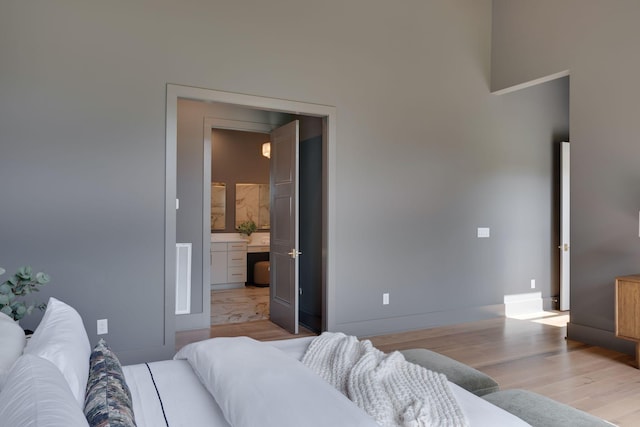
[(302, 362), (264, 342), (213, 338), (174, 359), (189, 361), (234, 427), (379, 427)]

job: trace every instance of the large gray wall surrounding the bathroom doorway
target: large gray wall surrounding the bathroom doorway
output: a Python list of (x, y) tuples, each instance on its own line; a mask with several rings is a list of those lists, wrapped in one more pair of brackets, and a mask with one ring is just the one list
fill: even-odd
[[(107, 339), (125, 363), (173, 346), (163, 288), (167, 82), (336, 107), (339, 329), (370, 335), (495, 315), (531, 278), (551, 292), (552, 144), (567, 134), (566, 81), (489, 93), (490, 0), (291, 6), (0, 7), (0, 262), (50, 272), (42, 296), (78, 307), (92, 342), (95, 320), (109, 318)], [(201, 119), (192, 125), (190, 143), (202, 144)], [(631, 146), (616, 163), (631, 162)], [(202, 179), (194, 168), (189, 179)], [(181, 200), (197, 203), (181, 179)], [(598, 197), (622, 192), (609, 185)], [(201, 214), (193, 221), (178, 218), (178, 240)], [(478, 226), (492, 238), (475, 238)]]

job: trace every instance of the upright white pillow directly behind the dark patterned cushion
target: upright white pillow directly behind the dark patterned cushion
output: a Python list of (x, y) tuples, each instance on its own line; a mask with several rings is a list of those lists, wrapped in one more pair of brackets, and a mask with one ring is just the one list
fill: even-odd
[(47, 311), (27, 343), (24, 354), (52, 362), (67, 380), (78, 406), (84, 406), (91, 345), (82, 318), (73, 307), (49, 298)]

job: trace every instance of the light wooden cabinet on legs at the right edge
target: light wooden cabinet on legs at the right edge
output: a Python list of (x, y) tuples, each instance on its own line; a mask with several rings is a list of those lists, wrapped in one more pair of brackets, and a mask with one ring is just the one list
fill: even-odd
[(616, 336), (636, 342), (640, 368), (640, 274), (616, 277)]

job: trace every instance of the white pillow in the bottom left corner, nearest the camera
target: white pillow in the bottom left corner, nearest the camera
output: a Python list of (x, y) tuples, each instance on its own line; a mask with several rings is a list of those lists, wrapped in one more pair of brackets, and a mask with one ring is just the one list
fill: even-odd
[(87, 427), (87, 419), (60, 371), (48, 360), (24, 355), (0, 392), (0, 423), (22, 427)]

